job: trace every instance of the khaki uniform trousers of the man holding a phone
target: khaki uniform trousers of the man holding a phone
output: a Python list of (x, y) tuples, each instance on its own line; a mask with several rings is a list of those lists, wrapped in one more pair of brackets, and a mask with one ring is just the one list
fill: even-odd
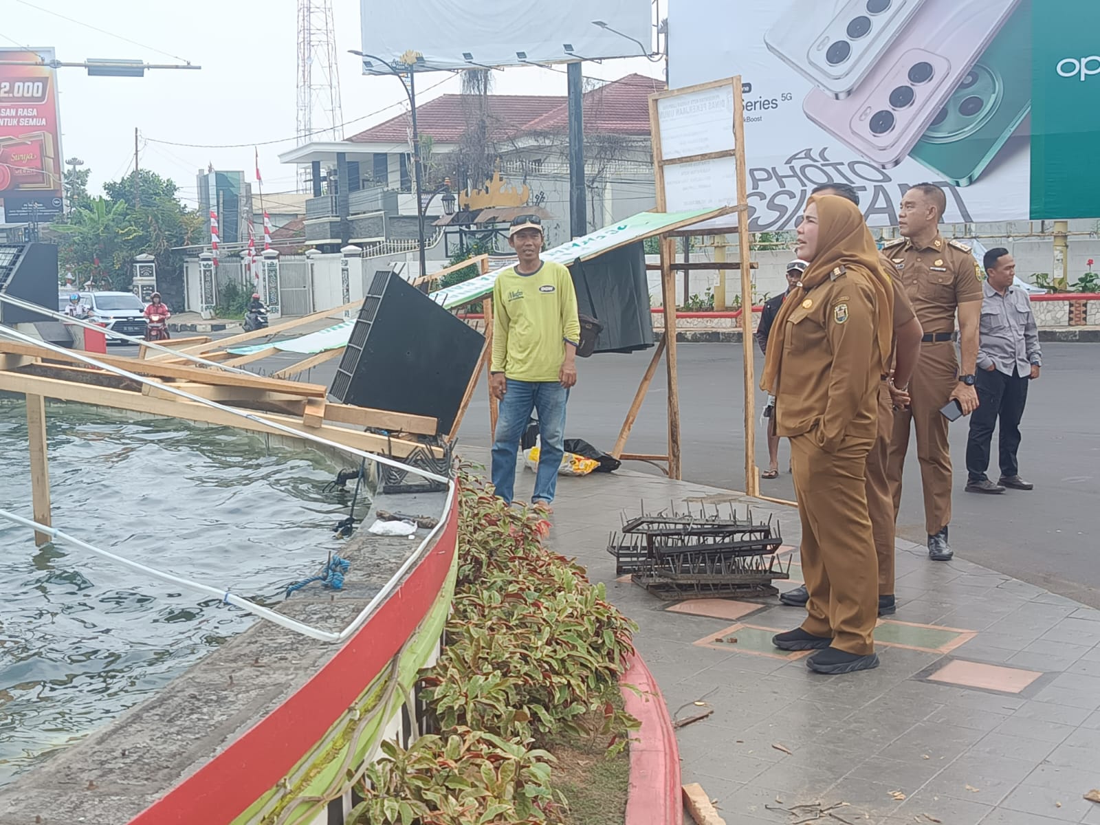
[(894, 415), (887, 475), (894, 513), (901, 506), (901, 480), (909, 451), (910, 422), (916, 427), (916, 459), (924, 487), (924, 526), (935, 536), (952, 520), (952, 453), (948, 421), (939, 413), (958, 383), (958, 359), (950, 341), (921, 344), (921, 360), (910, 382), (910, 409)]

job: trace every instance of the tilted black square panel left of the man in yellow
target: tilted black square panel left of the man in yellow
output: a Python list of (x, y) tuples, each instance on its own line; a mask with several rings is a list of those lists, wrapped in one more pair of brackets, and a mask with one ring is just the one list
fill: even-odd
[(432, 416), (447, 433), (484, 344), (404, 278), (378, 272), (329, 392), (341, 404)]

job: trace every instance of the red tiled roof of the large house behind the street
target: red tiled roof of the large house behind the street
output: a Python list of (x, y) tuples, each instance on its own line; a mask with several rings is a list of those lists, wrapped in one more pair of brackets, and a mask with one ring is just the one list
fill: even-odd
[[(584, 131), (594, 133), (649, 134), (649, 96), (664, 89), (664, 82), (644, 75), (627, 75), (584, 95)], [(525, 132), (569, 130), (569, 106), (551, 95), (490, 95), (491, 140)], [(417, 127), (439, 143), (458, 143), (468, 129), (473, 110), (469, 96), (441, 95), (417, 108)], [(354, 143), (405, 143), (411, 120), (408, 113), (392, 118), (353, 135)]]

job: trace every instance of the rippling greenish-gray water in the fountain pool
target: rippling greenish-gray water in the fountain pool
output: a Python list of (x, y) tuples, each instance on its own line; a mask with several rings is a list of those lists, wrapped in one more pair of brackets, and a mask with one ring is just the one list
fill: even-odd
[[(351, 496), (322, 491), (337, 468), (317, 453), (75, 404), (46, 415), (54, 526), (76, 538), (267, 603), (340, 548)], [(22, 399), (0, 400), (0, 502), (30, 517)], [(255, 620), (3, 520), (0, 547), (0, 784)]]

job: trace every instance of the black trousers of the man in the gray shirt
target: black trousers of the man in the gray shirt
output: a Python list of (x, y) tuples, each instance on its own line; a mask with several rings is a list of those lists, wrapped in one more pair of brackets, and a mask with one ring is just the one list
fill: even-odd
[(1001, 477), (1016, 475), (1020, 465), (1016, 451), (1020, 449), (1020, 419), (1027, 403), (1027, 384), (1031, 378), (1021, 377), (1019, 371), (1005, 375), (999, 370), (979, 370), (977, 374), (978, 409), (970, 416), (970, 436), (966, 443), (966, 469), (970, 481), (986, 479), (989, 469), (989, 448), (993, 440), (993, 428), (1001, 421), (998, 438), (1001, 461)]

